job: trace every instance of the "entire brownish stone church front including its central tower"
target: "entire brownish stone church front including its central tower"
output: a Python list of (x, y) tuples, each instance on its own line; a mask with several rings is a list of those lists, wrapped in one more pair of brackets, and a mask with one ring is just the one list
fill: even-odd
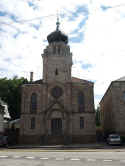
[(42, 54), (43, 79), (22, 86), (20, 143), (96, 140), (93, 83), (71, 76), (72, 53), (65, 38), (58, 30), (51, 34)]

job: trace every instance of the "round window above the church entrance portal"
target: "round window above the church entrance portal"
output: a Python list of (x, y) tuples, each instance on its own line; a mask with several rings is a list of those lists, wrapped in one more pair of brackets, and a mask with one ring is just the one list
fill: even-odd
[(51, 95), (54, 97), (54, 98), (59, 98), (60, 96), (62, 96), (63, 94), (63, 90), (62, 88), (56, 86), (54, 87), (52, 90), (51, 90)]

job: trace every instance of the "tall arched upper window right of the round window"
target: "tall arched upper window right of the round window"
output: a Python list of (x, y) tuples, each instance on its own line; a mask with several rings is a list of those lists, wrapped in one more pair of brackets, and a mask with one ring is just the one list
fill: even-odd
[(83, 92), (78, 92), (78, 111), (84, 112), (84, 94)]

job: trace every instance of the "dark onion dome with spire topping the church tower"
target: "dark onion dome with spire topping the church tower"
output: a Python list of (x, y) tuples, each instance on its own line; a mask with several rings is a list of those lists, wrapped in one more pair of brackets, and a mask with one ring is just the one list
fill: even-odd
[(56, 27), (56, 31), (50, 33), (47, 36), (47, 40), (49, 42), (49, 44), (54, 43), (54, 42), (64, 42), (65, 44), (68, 43), (68, 36), (65, 35), (64, 33), (62, 33), (59, 30), (59, 19), (57, 18), (57, 23), (56, 23), (57, 27)]

